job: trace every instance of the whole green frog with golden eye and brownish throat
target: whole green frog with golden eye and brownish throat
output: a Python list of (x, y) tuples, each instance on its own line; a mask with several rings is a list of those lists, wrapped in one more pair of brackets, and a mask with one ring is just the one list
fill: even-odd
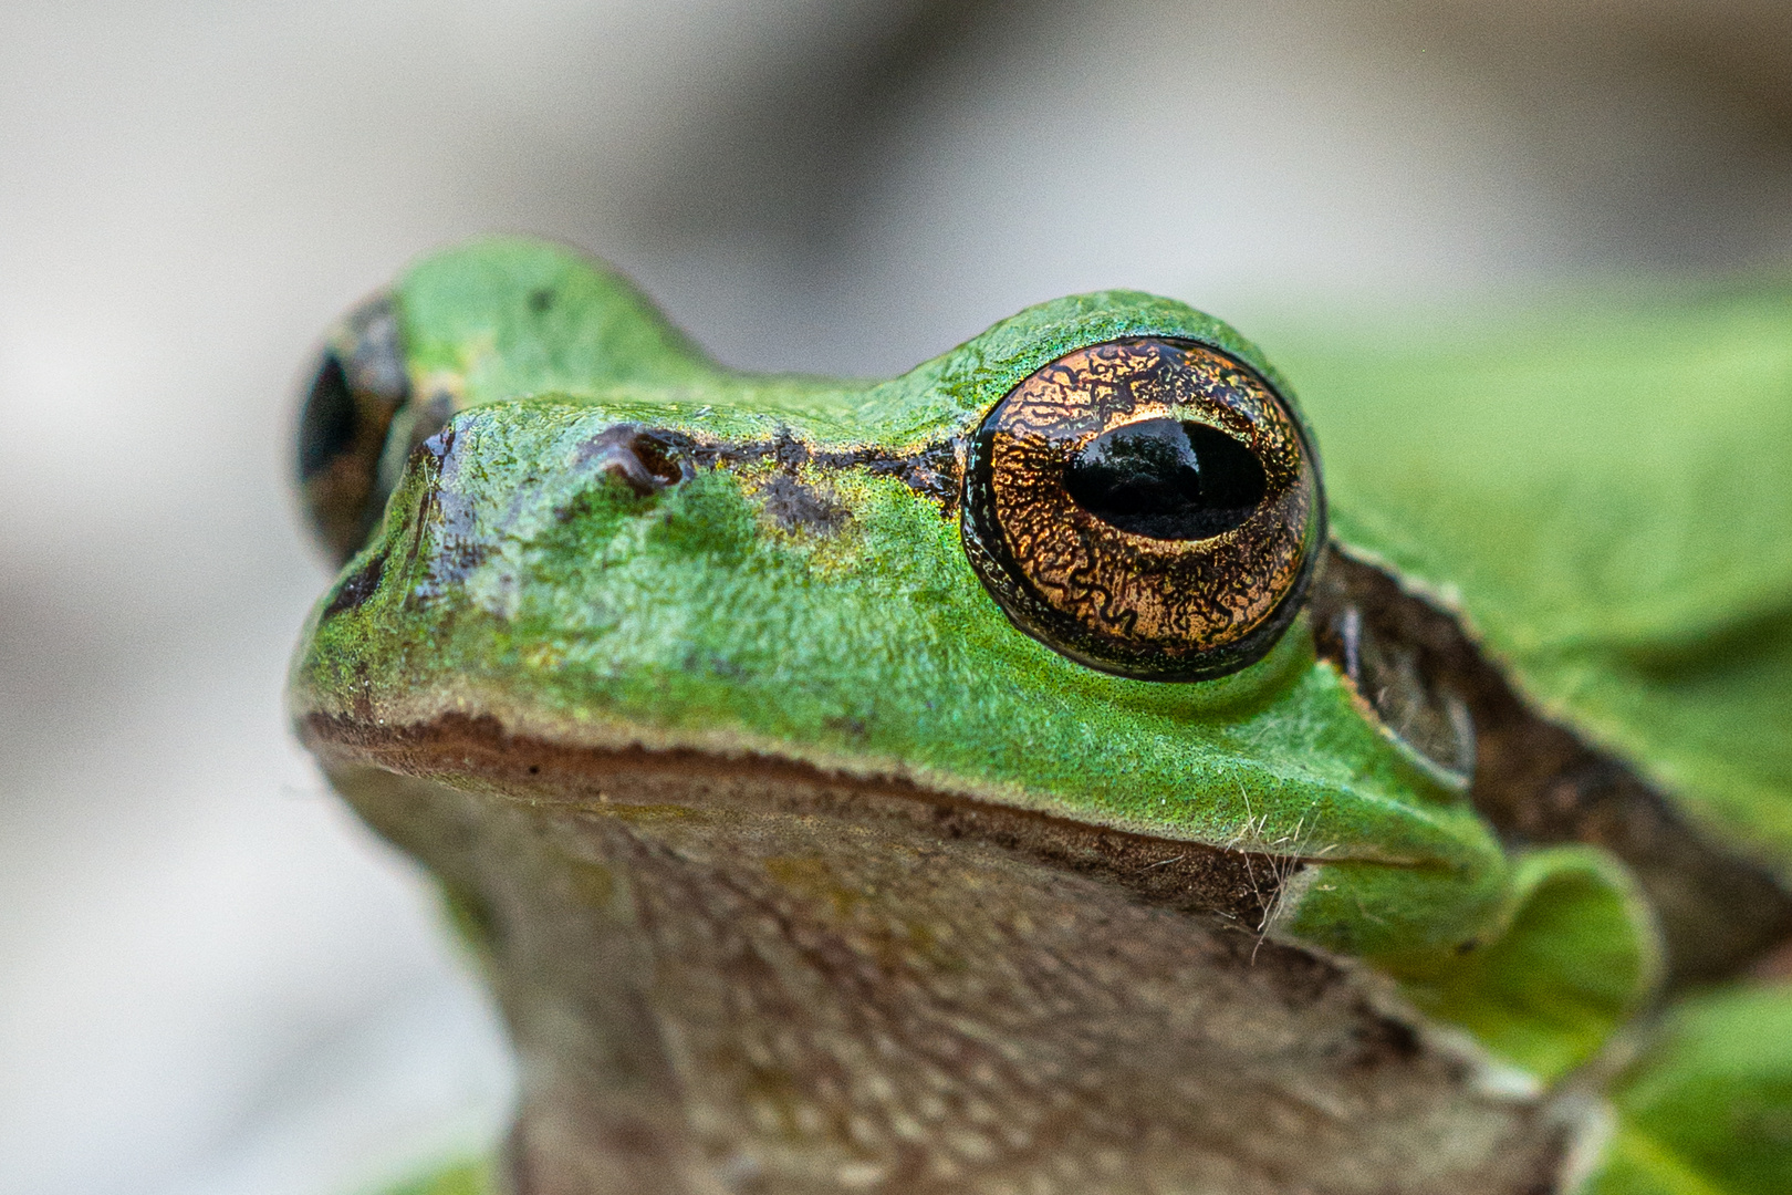
[(520, 1061), (403, 1190), (1787, 1190), (1792, 294), (1598, 310), (873, 382), (416, 262), (287, 690)]

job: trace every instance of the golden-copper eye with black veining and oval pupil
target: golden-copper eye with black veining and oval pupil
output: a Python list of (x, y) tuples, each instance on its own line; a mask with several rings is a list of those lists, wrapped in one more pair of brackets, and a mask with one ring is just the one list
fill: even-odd
[(1009, 620), (1120, 675), (1202, 681), (1263, 658), (1324, 537), (1319, 464), (1249, 365), (1113, 340), (995, 405), (964, 471), (964, 550)]

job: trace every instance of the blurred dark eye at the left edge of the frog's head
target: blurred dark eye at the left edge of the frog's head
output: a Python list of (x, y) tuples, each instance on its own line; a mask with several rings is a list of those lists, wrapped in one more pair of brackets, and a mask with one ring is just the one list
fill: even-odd
[(299, 412), (305, 514), (337, 563), (355, 555), (385, 509), (380, 457), (409, 398), (398, 317), (389, 299), (371, 299), (330, 335)]

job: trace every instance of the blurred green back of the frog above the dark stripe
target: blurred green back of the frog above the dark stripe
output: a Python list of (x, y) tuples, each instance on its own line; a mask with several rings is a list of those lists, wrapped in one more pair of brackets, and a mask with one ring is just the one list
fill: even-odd
[(1792, 292), (1294, 342), (1333, 532), (1792, 876)]

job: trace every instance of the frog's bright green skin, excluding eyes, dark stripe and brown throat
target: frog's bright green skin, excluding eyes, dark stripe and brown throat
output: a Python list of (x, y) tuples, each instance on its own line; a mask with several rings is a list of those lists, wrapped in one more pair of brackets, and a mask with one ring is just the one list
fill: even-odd
[[(297, 715), (464, 713), (570, 744), (769, 754), (1303, 860), (1271, 932), (1371, 960), (1539, 1079), (1647, 998), (1652, 924), (1622, 865), (1590, 847), (1509, 858), (1315, 659), (1305, 618), (1222, 681), (1104, 675), (1016, 632), (955, 518), (896, 477), (805, 466), (849, 512), (817, 530), (763, 509), (769, 464), (636, 496), (579, 462), (627, 421), (916, 451), (1039, 365), (1134, 335), (1211, 344), (1290, 394), (1226, 324), (1077, 296), (842, 383), (720, 369), (625, 281), (536, 242), (425, 260), (394, 299), (416, 392), (459, 410), (452, 475), (405, 466), (337, 584), (382, 557), (378, 588), (314, 611)], [(1787, 312), (1751, 296), (1638, 314), (1597, 351), (1564, 317), (1444, 355), (1279, 353), (1315, 416), (1335, 537), (1455, 607), (1545, 711), (1783, 874), (1792, 469), (1735, 462), (1792, 459), (1792, 337), (1765, 335)], [(1435, 401), (1462, 394), (1484, 401)], [(1468, 941), (1482, 950), (1459, 953)]]

